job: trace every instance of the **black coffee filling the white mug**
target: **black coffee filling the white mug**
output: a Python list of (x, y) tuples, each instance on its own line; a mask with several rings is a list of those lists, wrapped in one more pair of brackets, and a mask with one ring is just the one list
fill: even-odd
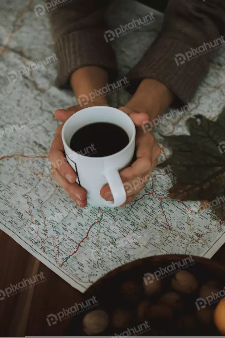
[(125, 130), (110, 122), (94, 122), (78, 129), (70, 141), (77, 153), (90, 157), (113, 155), (129, 143)]

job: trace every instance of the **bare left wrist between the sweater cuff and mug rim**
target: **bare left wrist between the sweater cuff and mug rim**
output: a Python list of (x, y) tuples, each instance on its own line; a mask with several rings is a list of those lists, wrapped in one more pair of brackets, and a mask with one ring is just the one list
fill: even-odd
[(108, 78), (108, 73), (100, 67), (87, 66), (76, 70), (71, 76), (71, 86), (78, 103), (107, 104), (108, 96), (102, 95), (101, 89), (107, 85)]

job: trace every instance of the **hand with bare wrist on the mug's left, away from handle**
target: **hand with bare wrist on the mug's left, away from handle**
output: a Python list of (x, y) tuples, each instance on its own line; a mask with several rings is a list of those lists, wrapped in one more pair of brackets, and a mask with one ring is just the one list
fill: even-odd
[[(55, 111), (55, 117), (63, 124), (71, 115), (83, 108), (108, 105), (107, 96), (97, 96), (93, 102), (95, 88), (103, 88), (108, 83), (108, 73), (104, 69), (96, 66), (81, 67), (72, 73), (70, 82), (80, 105)], [(85, 102), (83, 102), (84, 98)], [(63, 124), (56, 129), (55, 138), (49, 152), (51, 173), (56, 182), (76, 202), (76, 205), (84, 208), (87, 205), (86, 191), (76, 183), (76, 172), (68, 164), (64, 155), (61, 136)]]

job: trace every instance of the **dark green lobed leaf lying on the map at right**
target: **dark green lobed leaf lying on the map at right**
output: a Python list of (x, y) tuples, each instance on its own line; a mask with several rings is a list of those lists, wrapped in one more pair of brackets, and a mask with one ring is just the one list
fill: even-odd
[(165, 137), (173, 154), (159, 166), (170, 165), (177, 178), (170, 197), (208, 201), (225, 218), (225, 108), (217, 121), (197, 115), (187, 126), (190, 136)]

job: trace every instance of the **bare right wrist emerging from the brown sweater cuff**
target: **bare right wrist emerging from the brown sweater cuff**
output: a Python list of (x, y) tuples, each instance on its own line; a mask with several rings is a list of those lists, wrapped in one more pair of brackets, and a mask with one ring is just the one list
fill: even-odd
[(173, 100), (174, 94), (164, 83), (154, 79), (144, 79), (126, 106), (147, 113), (151, 119), (161, 115)]

